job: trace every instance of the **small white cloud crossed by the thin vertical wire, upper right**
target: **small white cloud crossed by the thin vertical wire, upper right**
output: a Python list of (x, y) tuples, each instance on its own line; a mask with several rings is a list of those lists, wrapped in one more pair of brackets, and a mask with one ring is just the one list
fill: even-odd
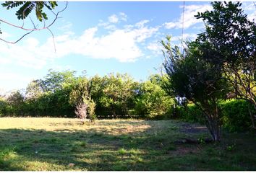
[[(180, 8), (183, 8), (183, 6), (180, 6)], [(191, 27), (192, 25), (195, 25), (197, 23), (202, 22), (200, 19), (196, 19), (194, 16), (197, 14), (197, 12), (205, 12), (206, 10), (211, 10), (212, 6), (210, 5), (189, 5), (185, 6), (184, 11), (184, 29), (187, 29), (188, 27)], [(166, 29), (180, 29), (183, 27), (183, 13), (180, 15), (179, 19), (177, 19), (174, 22), (166, 22), (164, 24)]]

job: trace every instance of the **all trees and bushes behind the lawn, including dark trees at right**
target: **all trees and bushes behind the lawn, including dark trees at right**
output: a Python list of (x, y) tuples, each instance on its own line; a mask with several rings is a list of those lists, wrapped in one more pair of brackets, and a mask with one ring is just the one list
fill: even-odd
[[(1, 115), (180, 117), (204, 123), (213, 141), (221, 140), (221, 127), (256, 129), (256, 24), (240, 2), (211, 4), (212, 11), (195, 15), (205, 22), (195, 41), (183, 48), (172, 47), (171, 36), (161, 41), (165, 76), (137, 82), (127, 74), (49, 71), (25, 92), (2, 97)], [(226, 102), (227, 93), (240, 100)]]

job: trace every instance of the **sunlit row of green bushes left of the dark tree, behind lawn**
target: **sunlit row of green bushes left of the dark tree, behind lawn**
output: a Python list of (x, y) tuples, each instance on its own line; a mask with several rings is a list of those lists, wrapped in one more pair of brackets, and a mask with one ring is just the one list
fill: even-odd
[(75, 117), (77, 102), (83, 99), (82, 102), (93, 102), (91, 114), (98, 118), (171, 115), (175, 99), (165, 92), (164, 77), (158, 74), (140, 82), (128, 74), (91, 78), (75, 74), (75, 71), (50, 70), (43, 79), (31, 81), (25, 90), (1, 96), (0, 114)]

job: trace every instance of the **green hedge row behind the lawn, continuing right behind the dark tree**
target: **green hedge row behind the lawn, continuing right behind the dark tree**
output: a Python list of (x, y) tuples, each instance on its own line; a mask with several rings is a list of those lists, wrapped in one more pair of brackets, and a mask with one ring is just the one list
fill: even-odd
[[(75, 71), (53, 71), (31, 81), (25, 90), (0, 97), (0, 115), (17, 117), (77, 117), (76, 102), (83, 95), (93, 103), (85, 112), (90, 118), (178, 118), (205, 124), (205, 115), (187, 99), (174, 96), (167, 76), (152, 75), (146, 81), (135, 81), (128, 74), (106, 76), (76, 76)], [(77, 99), (78, 98), (78, 99)], [(220, 123), (230, 131), (244, 131), (251, 127), (249, 110), (256, 112), (243, 99), (222, 99)], [(248, 107), (250, 109), (248, 110)], [(92, 110), (93, 109), (93, 110)]]

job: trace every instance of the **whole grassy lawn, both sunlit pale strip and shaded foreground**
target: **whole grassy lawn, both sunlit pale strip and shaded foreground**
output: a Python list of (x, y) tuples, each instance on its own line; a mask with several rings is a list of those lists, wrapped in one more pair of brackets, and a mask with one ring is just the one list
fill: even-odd
[(223, 133), (221, 143), (176, 144), (209, 137), (176, 120), (0, 118), (0, 170), (256, 170), (256, 136)]

